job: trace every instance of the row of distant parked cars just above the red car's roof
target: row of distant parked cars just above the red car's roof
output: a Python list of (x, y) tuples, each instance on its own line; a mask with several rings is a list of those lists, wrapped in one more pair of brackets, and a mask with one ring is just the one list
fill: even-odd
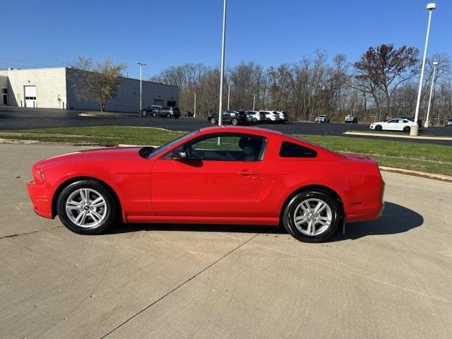
[[(218, 114), (208, 116), (210, 124), (218, 123)], [(222, 123), (231, 125), (284, 124), (289, 116), (284, 111), (231, 111), (222, 112)]]

